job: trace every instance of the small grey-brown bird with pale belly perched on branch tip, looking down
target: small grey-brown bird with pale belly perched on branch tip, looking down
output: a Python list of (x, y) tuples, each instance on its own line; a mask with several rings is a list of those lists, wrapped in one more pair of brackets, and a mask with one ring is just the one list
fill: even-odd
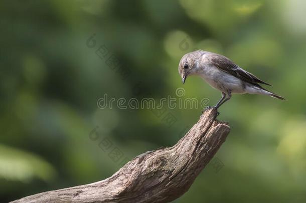
[(243, 70), (227, 57), (212, 52), (198, 50), (184, 55), (179, 73), (183, 84), (188, 76), (198, 75), (211, 87), (220, 90), (222, 98), (213, 107), (215, 109), (228, 101), (232, 94), (262, 94), (285, 100), (259, 85), (270, 84)]

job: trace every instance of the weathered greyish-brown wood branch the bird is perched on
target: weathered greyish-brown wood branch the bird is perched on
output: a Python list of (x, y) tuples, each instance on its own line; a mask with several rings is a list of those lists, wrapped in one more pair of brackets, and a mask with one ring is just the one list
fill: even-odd
[(174, 146), (141, 154), (99, 182), (13, 202), (169, 202), (183, 195), (225, 141), (230, 127), (208, 109)]

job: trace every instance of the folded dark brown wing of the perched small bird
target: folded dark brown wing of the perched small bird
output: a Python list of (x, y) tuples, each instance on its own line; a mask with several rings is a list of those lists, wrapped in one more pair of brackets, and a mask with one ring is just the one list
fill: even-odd
[[(228, 59), (225, 56), (215, 54), (211, 57), (209, 57), (209, 60), (212, 64), (214, 64), (216, 67), (221, 69), (222, 71), (231, 74), (232, 76), (235, 76), (245, 82), (251, 83), (253, 85), (259, 86), (257, 83), (270, 85), (253, 74), (243, 70), (238, 65), (234, 64), (230, 59)], [(270, 85), (271, 86), (271, 85)]]

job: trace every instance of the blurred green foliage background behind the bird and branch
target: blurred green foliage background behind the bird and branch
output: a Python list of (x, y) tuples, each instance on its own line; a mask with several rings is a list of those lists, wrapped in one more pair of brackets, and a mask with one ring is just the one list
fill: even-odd
[(219, 109), (231, 126), (215, 156), (222, 168), (208, 165), (174, 202), (306, 202), (305, 9), (302, 0), (1, 1), (0, 202), (98, 181), (175, 144), (200, 107), (168, 109), (170, 125), (97, 100), (184, 87), (183, 98), (216, 104), (220, 93), (202, 79), (181, 84), (179, 61), (196, 49), (231, 58), (287, 101), (234, 95)]

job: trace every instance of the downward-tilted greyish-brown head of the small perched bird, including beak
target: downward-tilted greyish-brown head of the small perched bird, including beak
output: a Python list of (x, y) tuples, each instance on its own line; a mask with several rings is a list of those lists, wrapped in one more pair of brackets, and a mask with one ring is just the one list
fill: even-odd
[(186, 81), (187, 76), (196, 72), (196, 56), (193, 52), (185, 54), (179, 64), (179, 73), (182, 77), (183, 84)]

